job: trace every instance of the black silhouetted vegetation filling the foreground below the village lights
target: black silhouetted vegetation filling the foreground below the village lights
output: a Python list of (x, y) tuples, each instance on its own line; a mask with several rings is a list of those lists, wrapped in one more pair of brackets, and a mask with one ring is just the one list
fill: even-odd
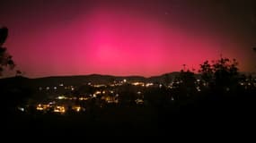
[(16, 107), (26, 103), (33, 90), (16, 77), (8, 86), (1, 82), (1, 109), (6, 130), (14, 134), (133, 137), (251, 132), (255, 79), (240, 74), (237, 63), (225, 58), (203, 63), (200, 77), (196, 80), (193, 71), (183, 69), (172, 80), (172, 88), (166, 78), (162, 88), (144, 89), (141, 105), (135, 103), (131, 85), (125, 84), (118, 104), (100, 107), (96, 104), (100, 99), (90, 99), (86, 112), (66, 114), (18, 111)]

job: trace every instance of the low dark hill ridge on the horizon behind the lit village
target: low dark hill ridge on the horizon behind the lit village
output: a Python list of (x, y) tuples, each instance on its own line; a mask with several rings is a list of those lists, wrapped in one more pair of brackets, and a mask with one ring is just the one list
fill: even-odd
[(31, 87), (39, 87), (39, 86), (57, 86), (61, 83), (65, 85), (73, 85), (78, 86), (82, 84), (87, 84), (91, 82), (93, 84), (106, 84), (120, 80), (128, 80), (128, 81), (143, 81), (143, 82), (154, 82), (154, 83), (164, 83), (166, 80), (166, 75), (168, 76), (168, 80), (173, 80), (175, 76), (177, 76), (179, 72), (171, 72), (166, 73), (160, 76), (154, 76), (145, 78), (142, 76), (111, 76), (111, 75), (100, 75), (100, 74), (90, 74), (90, 75), (79, 75), (79, 76), (53, 76), (53, 77), (45, 77), (45, 78), (37, 78), (37, 79), (29, 79), (25, 77), (13, 77), (1, 79), (0, 84), (12, 85), (11, 82), (15, 84), (29, 85)]

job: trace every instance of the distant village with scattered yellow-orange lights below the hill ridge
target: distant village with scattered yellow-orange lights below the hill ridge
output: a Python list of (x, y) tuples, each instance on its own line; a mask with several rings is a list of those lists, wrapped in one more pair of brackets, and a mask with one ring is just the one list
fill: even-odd
[[(144, 81), (114, 80), (109, 84), (81, 84), (79, 87), (59, 83), (56, 86), (40, 86), (37, 94), (44, 95), (41, 99), (31, 98), (25, 105), (17, 109), (22, 113), (67, 114), (86, 113), (93, 107), (102, 108), (107, 105), (146, 105), (145, 94), (150, 89), (166, 90), (170, 102), (177, 100), (172, 90), (178, 88), (182, 80), (172, 80), (168, 84)], [(256, 88), (256, 79), (239, 82), (244, 89)], [(196, 92), (206, 87), (207, 83), (195, 80)], [(229, 88), (225, 89), (227, 92)], [(125, 95), (123, 95), (125, 94)], [(38, 96), (38, 95), (36, 95)], [(125, 97), (126, 96), (126, 97)], [(154, 95), (158, 96), (158, 95)]]

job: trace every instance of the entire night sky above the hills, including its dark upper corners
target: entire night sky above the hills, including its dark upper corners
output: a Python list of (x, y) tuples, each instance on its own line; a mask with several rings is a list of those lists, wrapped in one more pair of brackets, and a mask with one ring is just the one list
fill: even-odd
[(256, 71), (256, 1), (2, 0), (17, 68), (53, 75), (159, 75), (223, 55)]

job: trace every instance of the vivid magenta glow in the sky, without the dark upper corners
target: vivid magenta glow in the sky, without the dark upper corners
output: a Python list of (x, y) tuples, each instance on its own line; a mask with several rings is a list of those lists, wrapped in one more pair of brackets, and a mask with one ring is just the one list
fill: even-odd
[[(244, 63), (243, 71), (252, 69), (248, 61), (253, 54), (249, 58), (240, 48), (252, 43), (239, 43), (237, 38), (225, 38), (225, 31), (193, 22), (180, 24), (164, 11), (159, 18), (138, 9), (98, 4), (71, 18), (63, 9), (39, 15), (40, 19), (31, 15), (24, 21), (4, 22), (10, 29), (6, 46), (29, 77), (91, 73), (148, 77), (180, 71), (183, 63), (198, 69), (199, 63), (220, 54)], [(165, 16), (171, 20), (163, 21)]]

